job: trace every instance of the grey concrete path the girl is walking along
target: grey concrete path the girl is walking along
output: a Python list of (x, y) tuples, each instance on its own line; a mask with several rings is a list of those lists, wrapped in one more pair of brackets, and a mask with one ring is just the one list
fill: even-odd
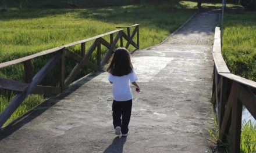
[(198, 13), (165, 43), (133, 54), (141, 93), (133, 91), (127, 138), (114, 134), (108, 74), (97, 72), (1, 132), (0, 152), (211, 152), (217, 17)]

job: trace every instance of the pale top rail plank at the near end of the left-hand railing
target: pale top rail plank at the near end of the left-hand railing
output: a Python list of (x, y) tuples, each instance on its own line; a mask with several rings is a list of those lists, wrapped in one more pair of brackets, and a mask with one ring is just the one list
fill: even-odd
[(20, 59), (11, 60), (11, 61), (6, 61), (5, 63), (1, 63), (1, 64), (0, 64), (0, 68), (8, 67), (9, 65), (13, 65), (13, 64), (22, 63), (23, 61), (27, 61), (27, 60), (30, 60), (30, 59), (34, 59), (35, 57), (43, 56), (43, 55), (45, 55), (45, 54), (58, 52), (58, 51), (61, 50), (61, 49), (63, 49), (63, 47), (56, 47), (56, 48), (44, 50), (44, 51), (39, 52), (39, 53), (31, 54), (30, 56), (22, 57), (22, 58), (20, 58)]

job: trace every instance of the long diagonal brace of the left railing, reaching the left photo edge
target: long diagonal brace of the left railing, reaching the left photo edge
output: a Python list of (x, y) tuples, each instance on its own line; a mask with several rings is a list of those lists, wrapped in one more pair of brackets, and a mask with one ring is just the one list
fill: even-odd
[(2, 127), (3, 124), (8, 120), (8, 118), (10, 118), (10, 116), (13, 114), (13, 112), (15, 112), (17, 107), (19, 107), (24, 99), (26, 99), (26, 97), (33, 92), (34, 88), (38, 85), (38, 83), (40, 83), (45, 75), (47, 75), (48, 72), (51, 71), (52, 68), (56, 65), (56, 63), (59, 62), (59, 59), (61, 59), (61, 53), (58, 53), (54, 57), (52, 57), (52, 59), (49, 60), (48, 63), (45, 64), (44, 67), (42, 67), (41, 70), (34, 76), (33, 81), (30, 83), (30, 85), (27, 86), (27, 88), (24, 89), (22, 93), (19, 93), (15, 97), (15, 99), (13, 99), (9, 103), (5, 110), (2, 111), (2, 113), (0, 114), (0, 127)]

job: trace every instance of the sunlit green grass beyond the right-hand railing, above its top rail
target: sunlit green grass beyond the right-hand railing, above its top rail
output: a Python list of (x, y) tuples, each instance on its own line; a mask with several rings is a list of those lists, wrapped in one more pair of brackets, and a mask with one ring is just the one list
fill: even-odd
[(227, 10), (222, 54), (233, 74), (256, 81), (256, 13)]

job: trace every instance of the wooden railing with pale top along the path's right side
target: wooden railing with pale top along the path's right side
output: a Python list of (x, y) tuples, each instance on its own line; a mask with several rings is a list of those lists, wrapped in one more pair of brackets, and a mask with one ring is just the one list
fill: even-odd
[(225, 144), (230, 130), (230, 152), (240, 152), (242, 107), (256, 118), (256, 82), (230, 73), (221, 54), (218, 27), (212, 54), (215, 63), (212, 102), (218, 114), (219, 143)]

